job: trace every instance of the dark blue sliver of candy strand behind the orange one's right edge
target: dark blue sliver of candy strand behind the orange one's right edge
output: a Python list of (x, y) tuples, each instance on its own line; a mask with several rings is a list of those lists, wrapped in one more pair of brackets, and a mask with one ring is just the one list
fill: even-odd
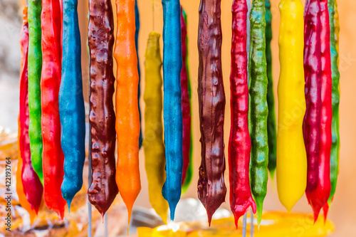
[(135, 0), (135, 47), (137, 54), (137, 71), (138, 71), (138, 88), (137, 88), (137, 105), (138, 112), (140, 113), (140, 137), (138, 138), (138, 148), (142, 147), (142, 127), (141, 127), (141, 109), (140, 109), (140, 96), (141, 96), (141, 70), (140, 70), (140, 58), (138, 57), (138, 33), (140, 32), (140, 12), (138, 11), (137, 0)]

